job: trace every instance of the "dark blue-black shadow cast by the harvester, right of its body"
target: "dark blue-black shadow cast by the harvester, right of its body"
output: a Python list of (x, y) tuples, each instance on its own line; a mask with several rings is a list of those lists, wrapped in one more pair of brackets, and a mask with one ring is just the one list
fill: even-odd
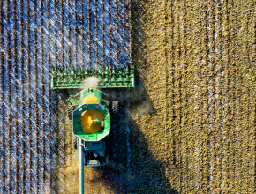
[[(139, 75), (135, 75), (138, 80)], [(137, 83), (134, 90), (114, 91), (117, 95), (120, 92), (118, 99), (121, 101), (117, 125), (114, 123), (116, 142), (110, 144), (113, 153), (110, 154), (109, 164), (101, 168), (99, 178), (114, 193), (177, 194), (165, 175), (167, 164), (155, 159), (154, 154), (148, 150), (149, 144), (141, 128), (132, 119), (132, 111), (144, 116), (156, 114), (143, 82)]]

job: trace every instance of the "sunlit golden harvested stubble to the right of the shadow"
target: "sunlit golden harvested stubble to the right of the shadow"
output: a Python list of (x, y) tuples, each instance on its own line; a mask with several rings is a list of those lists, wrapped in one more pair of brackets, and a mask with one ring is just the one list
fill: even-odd
[[(138, 4), (133, 11), (140, 19), (132, 22), (132, 30), (143, 34), (140, 42), (132, 42), (132, 59), (141, 72), (138, 77), (143, 79), (148, 100), (159, 110), (147, 119), (160, 116), (157, 120), (165, 118), (167, 123), (168, 140), (162, 142), (160, 152), (167, 153), (167, 164), (163, 158), (159, 160), (167, 166), (165, 175), (171, 188), (181, 193), (254, 192), (254, 177), (249, 173), (254, 170), (255, 157), (250, 149), (255, 121), (255, 101), (250, 100), (255, 97), (255, 32), (249, 31), (254, 24), (252, 1), (132, 4)], [(168, 11), (162, 11), (163, 7)], [(162, 48), (166, 54), (160, 52)], [(156, 65), (161, 67), (159, 71), (154, 71)], [(165, 70), (167, 81), (162, 82), (158, 75), (164, 77)], [(166, 91), (158, 86), (152, 92), (158, 83), (166, 83)], [(167, 96), (166, 116), (161, 112), (164, 102), (156, 100), (162, 93)], [(154, 134), (144, 123), (145, 116), (133, 118), (142, 131)], [(158, 131), (164, 129), (161, 124), (154, 125)], [(159, 148), (155, 142), (160, 137), (148, 141), (154, 139), (152, 146)]]

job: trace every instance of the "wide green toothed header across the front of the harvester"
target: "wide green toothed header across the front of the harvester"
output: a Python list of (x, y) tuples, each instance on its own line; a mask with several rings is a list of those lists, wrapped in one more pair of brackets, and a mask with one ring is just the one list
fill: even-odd
[(111, 87), (134, 87), (134, 66), (98, 66), (88, 68), (87, 66), (79, 67), (58, 67), (52, 69), (51, 89), (69, 89), (69, 88), (85, 88), (87, 83), (85, 80), (89, 77), (96, 77), (99, 80), (100, 88)]

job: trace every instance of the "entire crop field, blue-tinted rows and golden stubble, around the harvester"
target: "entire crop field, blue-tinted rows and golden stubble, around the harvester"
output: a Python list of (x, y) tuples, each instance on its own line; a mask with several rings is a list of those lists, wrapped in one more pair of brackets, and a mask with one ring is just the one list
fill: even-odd
[(0, 193), (79, 193), (51, 68), (93, 65), (135, 65), (136, 87), (86, 193), (255, 193), (255, 19), (252, 0), (0, 0)]

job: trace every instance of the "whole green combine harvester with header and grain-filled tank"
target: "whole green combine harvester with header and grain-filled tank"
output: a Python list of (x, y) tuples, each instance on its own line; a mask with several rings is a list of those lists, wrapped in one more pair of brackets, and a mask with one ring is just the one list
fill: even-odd
[[(73, 146), (78, 150), (80, 193), (84, 193), (84, 166), (104, 166), (109, 161), (110, 116), (118, 114), (118, 101), (104, 99), (102, 88), (134, 87), (134, 66), (105, 66), (92, 69), (67, 67), (52, 71), (51, 89), (79, 90), (68, 98), (68, 118), (72, 120)], [(116, 73), (117, 72), (117, 73)], [(98, 79), (98, 86), (87, 86), (87, 78)]]

